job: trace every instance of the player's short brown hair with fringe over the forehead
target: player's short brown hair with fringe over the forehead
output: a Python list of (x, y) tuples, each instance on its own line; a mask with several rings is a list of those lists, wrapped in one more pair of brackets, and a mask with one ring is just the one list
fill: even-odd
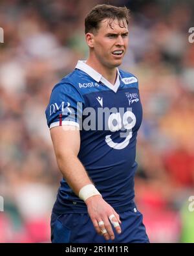
[(103, 19), (109, 19), (110, 27), (114, 19), (118, 19), (120, 27), (125, 27), (125, 21), (129, 24), (129, 9), (113, 5), (96, 5), (85, 17), (85, 34), (97, 32)]

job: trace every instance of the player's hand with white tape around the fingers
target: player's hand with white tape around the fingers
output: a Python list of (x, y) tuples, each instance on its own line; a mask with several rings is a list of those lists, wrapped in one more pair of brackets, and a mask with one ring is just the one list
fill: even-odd
[(111, 205), (103, 200), (102, 196), (91, 196), (85, 201), (87, 211), (91, 217), (96, 232), (106, 240), (114, 239), (114, 232), (111, 224), (118, 234), (121, 233), (121, 221), (118, 213), (114, 211)]

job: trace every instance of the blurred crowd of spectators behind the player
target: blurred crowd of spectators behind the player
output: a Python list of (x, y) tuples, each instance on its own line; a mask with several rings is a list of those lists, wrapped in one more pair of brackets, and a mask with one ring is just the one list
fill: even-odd
[(122, 68), (138, 76), (144, 109), (135, 201), (149, 239), (194, 242), (194, 6), (173, 0), (1, 0), (0, 242), (50, 242), (61, 173), (45, 108), (54, 84), (87, 58), (84, 18), (98, 3), (131, 10)]

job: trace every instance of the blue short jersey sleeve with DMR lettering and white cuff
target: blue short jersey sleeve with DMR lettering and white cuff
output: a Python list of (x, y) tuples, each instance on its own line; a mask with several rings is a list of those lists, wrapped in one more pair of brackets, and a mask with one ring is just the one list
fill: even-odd
[(72, 84), (56, 84), (45, 111), (48, 127), (74, 125), (80, 128), (83, 104), (83, 97)]

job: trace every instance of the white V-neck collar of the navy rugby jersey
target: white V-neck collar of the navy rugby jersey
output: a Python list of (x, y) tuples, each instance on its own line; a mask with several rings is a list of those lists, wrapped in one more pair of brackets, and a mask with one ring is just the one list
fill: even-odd
[(78, 64), (76, 65), (76, 69), (80, 69), (81, 71), (84, 71), (87, 73), (87, 75), (91, 76), (96, 82), (102, 82), (105, 86), (109, 87), (109, 89), (112, 89), (114, 93), (118, 90), (118, 87), (120, 86), (120, 73), (117, 69), (117, 76), (116, 76), (116, 82), (113, 86), (108, 80), (106, 80), (100, 73), (98, 73), (96, 70), (94, 70), (92, 67), (87, 65), (86, 60), (78, 60)]

